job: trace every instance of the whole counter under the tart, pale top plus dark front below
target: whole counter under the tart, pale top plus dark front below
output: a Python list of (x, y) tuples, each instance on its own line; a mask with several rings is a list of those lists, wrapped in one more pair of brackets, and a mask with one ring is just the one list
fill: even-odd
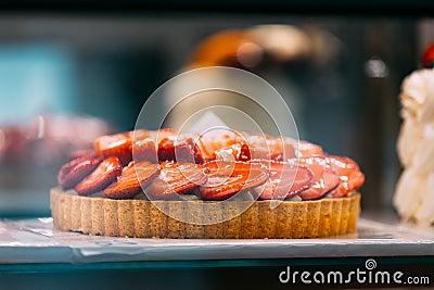
[[(250, 289), (283, 289), (289, 285), (279, 275), (290, 266), (299, 273), (367, 272), (368, 262), (378, 269), (424, 275), (433, 286), (434, 230), (360, 218), (357, 234), (329, 239), (174, 240), (62, 232), (51, 217), (0, 220), (0, 283), (18, 288), (231, 289), (229, 281), (238, 279), (235, 285)], [(340, 288), (328, 285), (334, 287)]]

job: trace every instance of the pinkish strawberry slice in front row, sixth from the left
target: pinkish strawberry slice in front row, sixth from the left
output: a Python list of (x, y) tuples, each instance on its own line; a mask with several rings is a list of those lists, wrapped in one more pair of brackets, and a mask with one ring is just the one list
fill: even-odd
[(314, 175), (306, 166), (277, 162), (269, 165), (267, 182), (252, 190), (260, 200), (284, 200), (297, 196), (314, 181)]

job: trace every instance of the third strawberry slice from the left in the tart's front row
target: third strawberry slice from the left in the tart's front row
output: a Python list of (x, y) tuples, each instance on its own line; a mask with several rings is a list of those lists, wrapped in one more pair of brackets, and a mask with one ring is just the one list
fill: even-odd
[(117, 181), (104, 189), (111, 199), (130, 199), (137, 196), (142, 187), (148, 186), (159, 174), (159, 165), (149, 161), (130, 163), (124, 167)]

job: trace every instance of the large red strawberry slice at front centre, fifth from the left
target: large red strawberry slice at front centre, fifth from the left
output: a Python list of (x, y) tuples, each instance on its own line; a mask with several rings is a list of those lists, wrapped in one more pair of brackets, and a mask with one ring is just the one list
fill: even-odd
[(260, 163), (212, 161), (204, 166), (209, 168), (208, 181), (200, 188), (204, 200), (226, 200), (268, 179), (268, 169)]

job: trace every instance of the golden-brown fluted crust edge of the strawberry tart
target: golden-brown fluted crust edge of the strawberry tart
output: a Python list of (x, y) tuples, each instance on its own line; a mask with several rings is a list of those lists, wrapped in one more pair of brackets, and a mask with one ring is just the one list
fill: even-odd
[[(157, 201), (168, 211), (201, 214), (200, 202)], [(136, 238), (320, 238), (356, 231), (360, 194), (317, 201), (282, 202), (270, 209), (270, 201), (256, 201), (241, 215), (215, 225), (191, 225), (162, 213), (145, 200), (111, 200), (68, 194), (60, 188), (50, 192), (54, 227), (90, 235)], [(235, 204), (233, 204), (237, 206)], [(237, 209), (217, 210), (228, 214)], [(218, 212), (220, 211), (220, 212)]]

